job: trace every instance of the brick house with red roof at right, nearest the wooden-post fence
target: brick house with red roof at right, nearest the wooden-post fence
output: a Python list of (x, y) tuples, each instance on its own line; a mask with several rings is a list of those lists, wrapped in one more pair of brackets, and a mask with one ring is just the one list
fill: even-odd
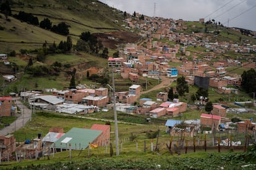
[(221, 123), (221, 116), (202, 113), (200, 122), (202, 127), (214, 127), (216, 129)]

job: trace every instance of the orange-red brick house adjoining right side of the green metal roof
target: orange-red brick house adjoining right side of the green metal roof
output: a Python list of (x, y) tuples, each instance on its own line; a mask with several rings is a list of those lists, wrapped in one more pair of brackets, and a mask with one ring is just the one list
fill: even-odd
[(95, 141), (98, 146), (105, 146), (109, 143), (110, 140), (110, 125), (105, 124), (93, 124), (93, 126), (90, 128), (92, 130), (98, 130), (102, 131), (100, 136)]

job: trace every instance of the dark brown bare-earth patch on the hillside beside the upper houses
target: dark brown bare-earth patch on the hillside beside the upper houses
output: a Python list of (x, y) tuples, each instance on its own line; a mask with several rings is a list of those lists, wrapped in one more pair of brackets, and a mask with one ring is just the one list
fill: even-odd
[(117, 49), (118, 44), (134, 43), (140, 39), (139, 35), (127, 31), (95, 33), (94, 35), (102, 41), (103, 46), (109, 49)]

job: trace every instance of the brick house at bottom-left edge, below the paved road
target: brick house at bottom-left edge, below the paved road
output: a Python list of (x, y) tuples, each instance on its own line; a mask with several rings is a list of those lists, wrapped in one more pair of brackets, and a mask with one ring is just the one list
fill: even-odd
[(0, 136), (0, 152), (1, 159), (8, 160), (8, 156), (12, 156), (12, 152), (15, 152), (16, 142), (13, 134), (8, 134), (7, 136)]

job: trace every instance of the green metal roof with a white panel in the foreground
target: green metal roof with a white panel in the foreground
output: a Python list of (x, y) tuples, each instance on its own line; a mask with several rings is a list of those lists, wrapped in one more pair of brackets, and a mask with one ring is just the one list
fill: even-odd
[[(73, 127), (70, 129), (70, 131), (64, 134), (64, 136), (59, 138), (59, 140), (57, 140), (54, 144), (56, 148), (61, 148), (62, 143), (63, 149), (66, 149), (66, 145), (67, 149), (69, 149), (69, 144), (71, 144), (72, 150), (84, 150), (88, 147), (89, 142), (93, 143), (93, 140), (100, 136), (102, 132), (103, 131)], [(53, 147), (54, 144), (52, 144), (51, 147)]]

